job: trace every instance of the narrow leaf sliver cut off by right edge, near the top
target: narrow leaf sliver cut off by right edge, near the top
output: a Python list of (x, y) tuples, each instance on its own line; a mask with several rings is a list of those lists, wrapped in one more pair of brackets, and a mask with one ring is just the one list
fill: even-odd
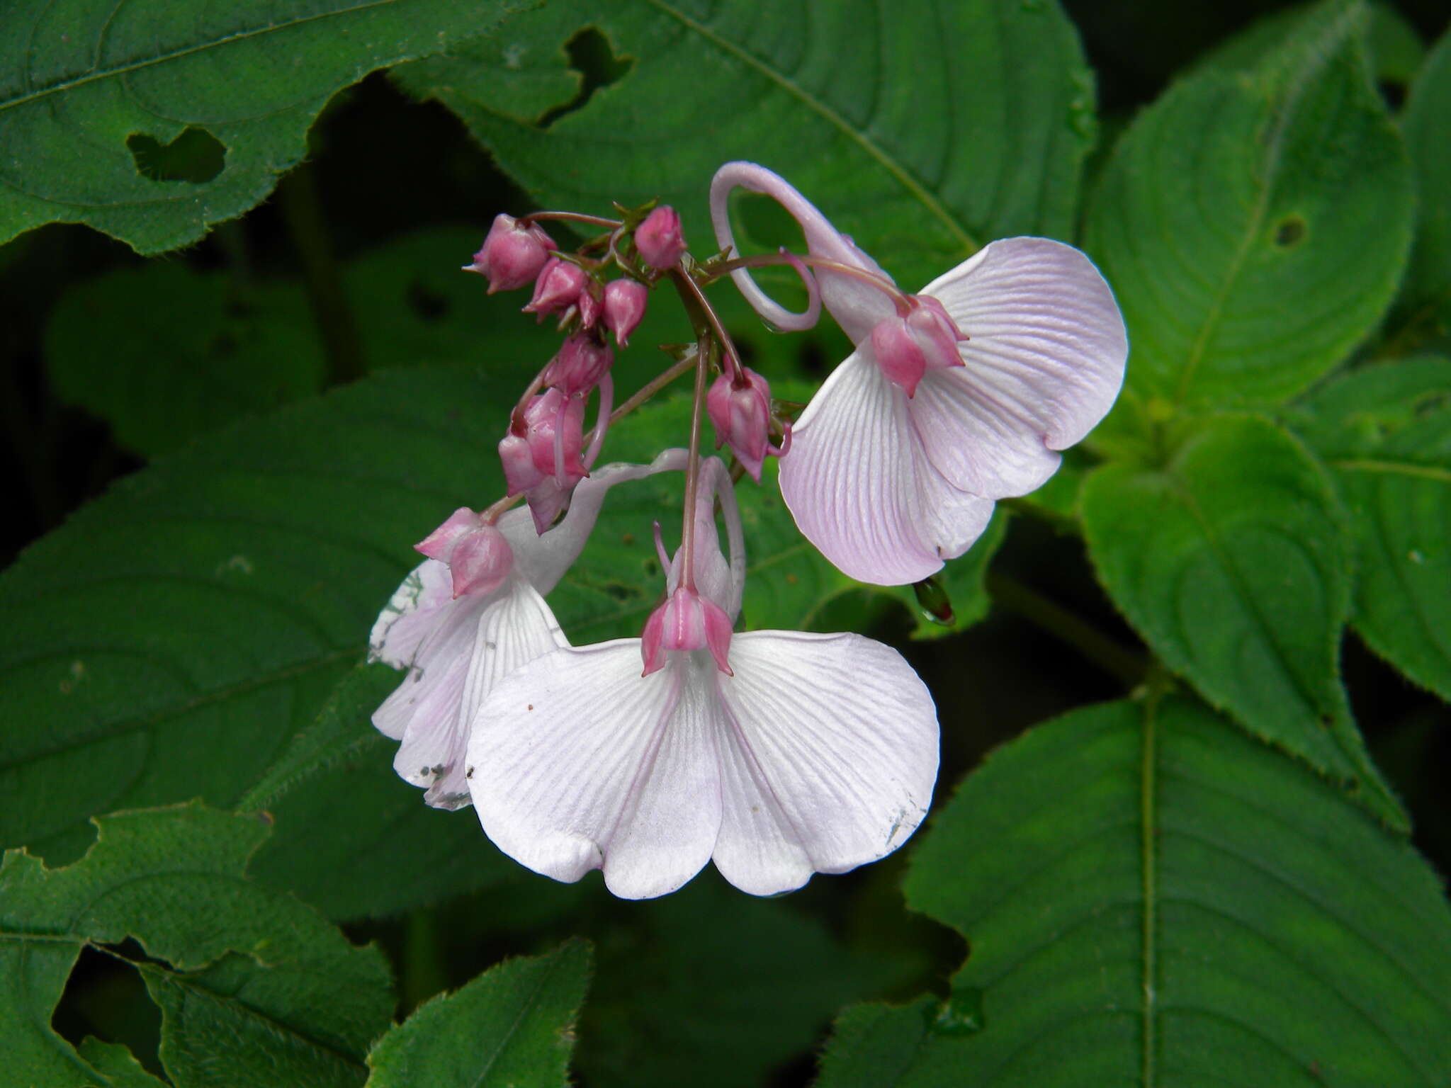
[(1407, 321), (1451, 326), (1451, 32), (1431, 51), (1410, 88), (1406, 144), (1421, 187), (1416, 248), (1406, 277)]

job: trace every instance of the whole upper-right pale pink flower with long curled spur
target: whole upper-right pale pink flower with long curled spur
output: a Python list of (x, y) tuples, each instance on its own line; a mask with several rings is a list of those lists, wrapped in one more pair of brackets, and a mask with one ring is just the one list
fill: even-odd
[[(1078, 250), (1006, 238), (904, 294), (789, 183), (752, 162), (727, 162), (711, 184), (723, 248), (737, 186), (797, 219), (823, 302), (856, 344), (795, 422), (781, 493), (846, 574), (921, 580), (972, 545), (995, 499), (1042, 486), (1056, 451), (1109, 412), (1127, 357), (1113, 292)], [(766, 321), (791, 318), (747, 270), (731, 274)]]

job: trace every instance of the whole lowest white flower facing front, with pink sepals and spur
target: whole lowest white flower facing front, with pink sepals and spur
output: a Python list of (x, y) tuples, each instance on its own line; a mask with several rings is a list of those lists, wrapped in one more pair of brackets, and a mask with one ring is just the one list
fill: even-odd
[[(682, 547), (660, 609), (698, 596), (734, 622), (740, 521), (724, 466), (701, 471), (692, 570), (682, 577)], [(506, 854), (559, 881), (604, 869), (631, 899), (672, 892), (710, 860), (737, 888), (775, 895), (884, 857), (923, 820), (937, 717), (895, 650), (856, 634), (651, 624), (644, 641), (550, 650), (483, 701), (469, 788)], [(641, 660), (654, 660), (644, 676)]]

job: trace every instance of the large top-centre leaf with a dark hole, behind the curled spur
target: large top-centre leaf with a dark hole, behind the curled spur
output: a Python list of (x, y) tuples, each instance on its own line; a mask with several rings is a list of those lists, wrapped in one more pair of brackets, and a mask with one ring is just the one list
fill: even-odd
[(1096, 129), (1093, 75), (1051, 0), (930, 19), (866, 0), (546, 6), (395, 75), (546, 206), (659, 196), (708, 250), (711, 174), (747, 158), (908, 286), (998, 235), (1068, 236)]

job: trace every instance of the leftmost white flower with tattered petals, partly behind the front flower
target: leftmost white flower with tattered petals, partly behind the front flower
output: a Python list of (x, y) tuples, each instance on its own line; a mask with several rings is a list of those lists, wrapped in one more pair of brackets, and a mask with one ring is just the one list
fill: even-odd
[(508, 541), (506, 570), (485, 592), (456, 596), (457, 579), (437, 559), (403, 579), (373, 624), (369, 660), (406, 669), (408, 676), (373, 712), (373, 724), (402, 741), (393, 769), (428, 791), (424, 801), (448, 809), (469, 804), (464, 749), (479, 704), (518, 666), (567, 646), (544, 595), (579, 557), (605, 493), (683, 464), (683, 450), (667, 450), (650, 464), (607, 464), (575, 487), (569, 512), (543, 535), (528, 511), (505, 512), (498, 529)]

